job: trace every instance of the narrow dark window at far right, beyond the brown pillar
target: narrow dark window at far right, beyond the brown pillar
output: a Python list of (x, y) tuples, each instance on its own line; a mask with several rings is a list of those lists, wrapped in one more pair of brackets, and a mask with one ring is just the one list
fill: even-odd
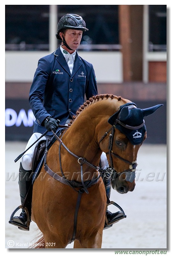
[(149, 5), (149, 52), (167, 51), (167, 5)]

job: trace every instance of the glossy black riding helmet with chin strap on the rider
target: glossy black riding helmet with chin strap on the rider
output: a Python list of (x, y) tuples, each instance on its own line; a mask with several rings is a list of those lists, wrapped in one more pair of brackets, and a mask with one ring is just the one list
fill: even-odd
[[(61, 40), (60, 32), (62, 29), (77, 29), (82, 30), (83, 32), (88, 30), (88, 28), (86, 28), (85, 21), (82, 19), (81, 16), (77, 14), (66, 14), (61, 17), (57, 24), (56, 37), (58, 40)], [(63, 40), (61, 41), (63, 42), (63, 45), (65, 45), (69, 50), (73, 50), (66, 44), (64, 36)]]

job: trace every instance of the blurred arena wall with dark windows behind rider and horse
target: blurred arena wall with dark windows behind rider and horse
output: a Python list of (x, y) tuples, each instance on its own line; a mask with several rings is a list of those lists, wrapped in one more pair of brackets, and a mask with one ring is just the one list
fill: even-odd
[(57, 23), (82, 16), (78, 54), (94, 66), (98, 93), (129, 99), (138, 108), (164, 104), (145, 117), (145, 143), (166, 143), (166, 5), (5, 5), (5, 135), (28, 140), (34, 116), (28, 98), (39, 58), (56, 50)]

